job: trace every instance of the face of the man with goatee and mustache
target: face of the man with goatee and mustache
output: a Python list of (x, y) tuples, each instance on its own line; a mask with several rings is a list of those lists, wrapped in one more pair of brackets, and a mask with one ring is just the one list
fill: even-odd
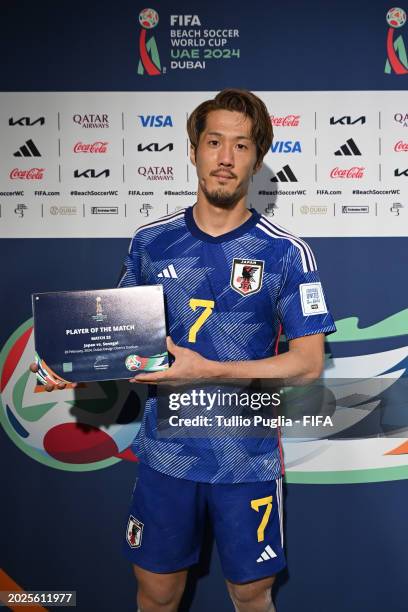
[(251, 140), (252, 120), (237, 111), (208, 113), (204, 131), (190, 159), (208, 202), (232, 208), (248, 192), (256, 167), (256, 146)]

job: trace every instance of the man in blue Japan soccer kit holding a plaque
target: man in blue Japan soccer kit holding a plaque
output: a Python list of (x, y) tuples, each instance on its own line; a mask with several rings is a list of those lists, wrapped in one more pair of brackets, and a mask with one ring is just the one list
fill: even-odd
[[(195, 109), (187, 129), (197, 203), (136, 231), (120, 281), (163, 284), (174, 357), (167, 371), (131, 379), (150, 386), (133, 445), (139, 478), (125, 554), (139, 609), (177, 610), (208, 511), (235, 609), (272, 612), (271, 588), (285, 566), (278, 437), (248, 439), (239, 427), (238, 436), (165, 437), (157, 391), (186, 380), (315, 379), (335, 326), (310, 247), (246, 208), (272, 142), (263, 102), (224, 90)], [(277, 355), (282, 329), (289, 350)]]

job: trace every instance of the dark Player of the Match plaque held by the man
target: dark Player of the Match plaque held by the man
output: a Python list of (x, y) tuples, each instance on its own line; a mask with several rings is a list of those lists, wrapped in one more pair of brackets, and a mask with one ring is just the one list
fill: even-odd
[(34, 293), (42, 383), (133, 378), (169, 367), (162, 285)]

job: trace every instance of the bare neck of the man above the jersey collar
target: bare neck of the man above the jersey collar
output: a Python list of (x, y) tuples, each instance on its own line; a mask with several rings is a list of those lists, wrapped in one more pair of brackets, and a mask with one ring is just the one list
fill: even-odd
[(206, 199), (198, 198), (193, 209), (193, 216), (200, 230), (215, 238), (232, 232), (245, 223), (251, 213), (246, 208), (245, 198), (229, 209), (213, 206)]

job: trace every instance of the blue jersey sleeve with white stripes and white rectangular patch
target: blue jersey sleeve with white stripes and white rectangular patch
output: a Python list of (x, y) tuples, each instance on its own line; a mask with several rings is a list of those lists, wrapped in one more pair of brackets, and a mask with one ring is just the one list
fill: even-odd
[(312, 334), (331, 334), (336, 326), (309, 245), (292, 244), (283, 257), (277, 311), (288, 340)]

